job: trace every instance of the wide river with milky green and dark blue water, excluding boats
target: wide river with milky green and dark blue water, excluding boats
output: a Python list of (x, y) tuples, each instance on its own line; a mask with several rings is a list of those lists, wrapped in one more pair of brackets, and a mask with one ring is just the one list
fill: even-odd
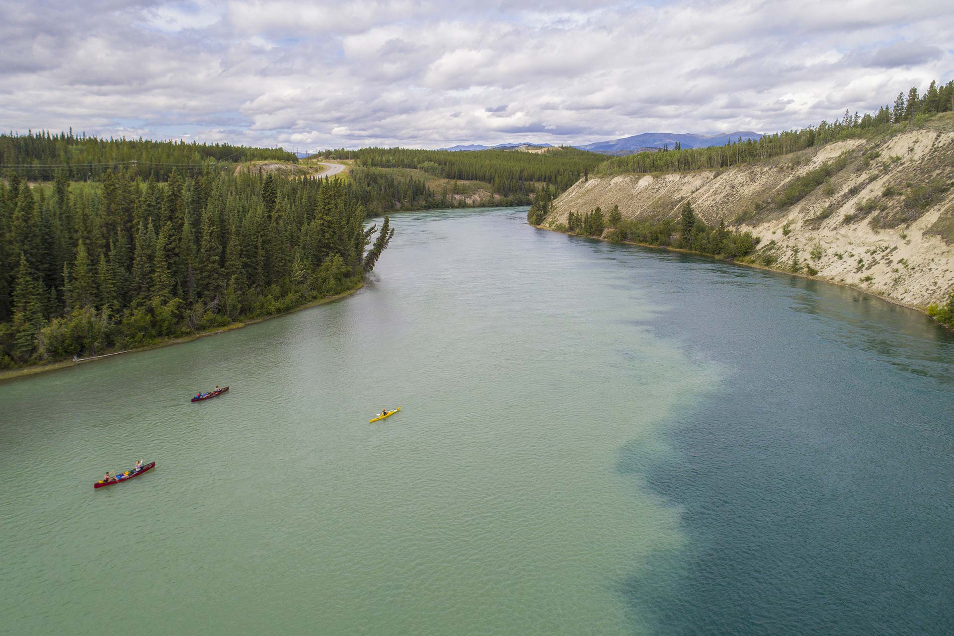
[(949, 333), (525, 214), (396, 215), (353, 297), (0, 384), (0, 631), (950, 633)]

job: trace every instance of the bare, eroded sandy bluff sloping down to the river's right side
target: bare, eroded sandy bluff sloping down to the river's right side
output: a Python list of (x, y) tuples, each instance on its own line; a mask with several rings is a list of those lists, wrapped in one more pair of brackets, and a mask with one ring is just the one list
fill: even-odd
[[(591, 174), (542, 223), (618, 209), (677, 221), (691, 201), (709, 227), (760, 239), (759, 254), (921, 311), (954, 287), (954, 115), (719, 170)], [(757, 258), (761, 263), (761, 258)], [(773, 268), (773, 265), (769, 266)]]

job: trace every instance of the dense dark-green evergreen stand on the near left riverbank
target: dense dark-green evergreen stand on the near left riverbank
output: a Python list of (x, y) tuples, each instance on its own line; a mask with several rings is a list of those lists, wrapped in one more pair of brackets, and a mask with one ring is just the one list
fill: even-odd
[(0, 368), (145, 346), (342, 293), (394, 233), (386, 216), (380, 231), (365, 226), (342, 179), (192, 172), (173, 166), (160, 180), (127, 166), (76, 182), (58, 168), (51, 182), (18, 171), (0, 182)]

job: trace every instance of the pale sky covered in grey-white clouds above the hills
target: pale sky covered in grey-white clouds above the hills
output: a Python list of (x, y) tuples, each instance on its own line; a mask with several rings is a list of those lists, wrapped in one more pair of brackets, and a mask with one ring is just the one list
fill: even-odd
[(24, 133), (585, 143), (773, 132), (954, 79), (950, 0), (0, 0), (0, 15), (0, 128)]

